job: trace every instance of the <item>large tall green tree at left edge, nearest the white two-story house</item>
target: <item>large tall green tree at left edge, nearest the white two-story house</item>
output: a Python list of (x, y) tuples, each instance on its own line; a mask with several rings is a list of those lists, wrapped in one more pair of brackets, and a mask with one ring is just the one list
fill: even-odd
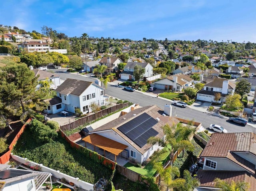
[(0, 71), (1, 111), (25, 120), (33, 110), (42, 110), (36, 93), (37, 77), (26, 64), (11, 64)]

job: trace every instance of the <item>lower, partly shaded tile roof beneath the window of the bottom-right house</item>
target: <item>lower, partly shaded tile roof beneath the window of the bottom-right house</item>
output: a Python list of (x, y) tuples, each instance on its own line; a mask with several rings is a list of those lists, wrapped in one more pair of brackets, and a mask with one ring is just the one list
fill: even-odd
[(213, 171), (199, 169), (197, 178), (201, 183), (199, 187), (214, 188), (214, 179), (220, 178), (221, 180), (227, 181), (228, 183), (231, 183), (232, 181), (246, 181), (250, 184), (248, 191), (256, 190), (255, 175), (251, 175), (246, 171)]

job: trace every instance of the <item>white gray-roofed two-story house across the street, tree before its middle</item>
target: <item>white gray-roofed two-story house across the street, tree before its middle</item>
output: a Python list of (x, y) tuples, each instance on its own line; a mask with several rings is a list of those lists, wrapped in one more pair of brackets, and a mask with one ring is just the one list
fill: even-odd
[(151, 77), (153, 76), (153, 67), (150, 63), (146, 62), (128, 62), (124, 66), (124, 71), (120, 73), (120, 79), (122, 80), (134, 80), (134, 67), (136, 65), (141, 66), (142, 68), (145, 68), (145, 73), (143, 74), (143, 77)]

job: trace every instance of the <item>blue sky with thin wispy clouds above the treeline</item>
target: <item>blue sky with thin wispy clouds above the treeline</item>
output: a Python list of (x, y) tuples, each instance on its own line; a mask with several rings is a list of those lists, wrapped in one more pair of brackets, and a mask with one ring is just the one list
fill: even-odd
[(256, 43), (256, 0), (5, 0), (0, 24), (68, 37)]

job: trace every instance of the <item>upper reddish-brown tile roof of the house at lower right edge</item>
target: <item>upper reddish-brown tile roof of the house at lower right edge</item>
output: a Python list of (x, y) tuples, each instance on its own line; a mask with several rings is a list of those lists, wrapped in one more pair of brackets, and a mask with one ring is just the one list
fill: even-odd
[[(212, 144), (213, 143), (213, 144)], [(250, 152), (256, 155), (256, 134), (225, 133), (212, 134), (201, 157), (224, 157), (230, 152)]]

